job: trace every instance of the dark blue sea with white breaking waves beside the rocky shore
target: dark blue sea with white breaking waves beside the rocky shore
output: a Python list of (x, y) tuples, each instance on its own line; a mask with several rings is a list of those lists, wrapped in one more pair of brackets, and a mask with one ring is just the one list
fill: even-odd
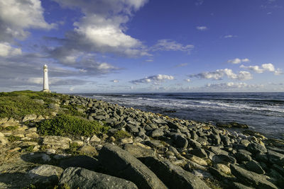
[(284, 93), (81, 93), (109, 103), (201, 122), (240, 122), (284, 139)]

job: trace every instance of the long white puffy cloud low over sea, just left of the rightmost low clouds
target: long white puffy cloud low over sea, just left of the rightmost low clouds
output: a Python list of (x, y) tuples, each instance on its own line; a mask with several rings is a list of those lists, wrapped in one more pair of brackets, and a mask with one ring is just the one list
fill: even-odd
[(231, 69), (217, 69), (216, 71), (205, 71), (200, 74), (191, 74), (190, 77), (196, 77), (199, 79), (213, 79), (221, 80), (227, 76), (229, 79), (236, 80), (249, 80), (252, 79), (251, 73), (249, 71), (239, 71), (239, 74), (234, 74)]

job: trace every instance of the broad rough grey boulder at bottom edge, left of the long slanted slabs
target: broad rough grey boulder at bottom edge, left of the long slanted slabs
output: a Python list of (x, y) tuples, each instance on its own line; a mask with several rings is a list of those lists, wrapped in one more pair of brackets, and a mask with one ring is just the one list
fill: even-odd
[(126, 181), (114, 176), (89, 171), (85, 168), (69, 167), (65, 169), (60, 178), (59, 184), (67, 183), (70, 188), (137, 188), (131, 181)]

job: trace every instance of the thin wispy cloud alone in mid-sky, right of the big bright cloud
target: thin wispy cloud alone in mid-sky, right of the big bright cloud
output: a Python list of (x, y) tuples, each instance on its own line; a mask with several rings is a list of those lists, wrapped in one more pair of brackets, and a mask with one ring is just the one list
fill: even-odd
[(153, 51), (183, 51), (190, 52), (195, 46), (194, 45), (182, 45), (174, 40), (163, 39), (151, 47)]

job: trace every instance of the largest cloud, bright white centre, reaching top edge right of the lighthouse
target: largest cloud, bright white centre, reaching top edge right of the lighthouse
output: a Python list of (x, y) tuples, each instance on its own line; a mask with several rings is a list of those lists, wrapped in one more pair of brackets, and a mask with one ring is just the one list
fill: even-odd
[[(133, 11), (138, 11), (147, 0), (54, 0), (65, 8), (80, 8), (84, 16), (67, 33), (65, 49), (112, 52), (128, 56), (148, 55), (146, 47), (127, 35), (125, 24)], [(98, 6), (99, 5), (99, 6)]]

